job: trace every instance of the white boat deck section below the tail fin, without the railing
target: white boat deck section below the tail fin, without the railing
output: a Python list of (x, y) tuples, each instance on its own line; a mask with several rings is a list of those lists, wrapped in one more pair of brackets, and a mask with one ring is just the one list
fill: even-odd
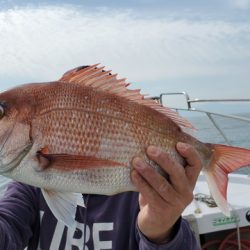
[(211, 197), (204, 175), (199, 176), (194, 200), (182, 215), (189, 221), (201, 249), (250, 249), (249, 190), (248, 175), (229, 175), (227, 193), (232, 210), (227, 217)]

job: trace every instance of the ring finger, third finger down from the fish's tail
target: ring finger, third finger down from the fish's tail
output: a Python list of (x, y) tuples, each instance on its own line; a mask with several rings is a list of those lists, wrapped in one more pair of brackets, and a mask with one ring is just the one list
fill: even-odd
[(150, 184), (150, 186), (160, 195), (165, 201), (173, 201), (177, 197), (176, 191), (171, 184), (160, 175), (155, 169), (136, 157), (132, 161), (133, 167), (140, 175)]

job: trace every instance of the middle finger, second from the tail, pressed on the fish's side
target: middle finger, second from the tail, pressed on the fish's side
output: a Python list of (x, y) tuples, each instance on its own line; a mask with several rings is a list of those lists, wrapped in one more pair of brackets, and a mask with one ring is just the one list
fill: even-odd
[(174, 161), (165, 151), (155, 146), (149, 146), (147, 154), (150, 159), (156, 162), (168, 175), (173, 187), (178, 192), (183, 192), (188, 184), (184, 167)]

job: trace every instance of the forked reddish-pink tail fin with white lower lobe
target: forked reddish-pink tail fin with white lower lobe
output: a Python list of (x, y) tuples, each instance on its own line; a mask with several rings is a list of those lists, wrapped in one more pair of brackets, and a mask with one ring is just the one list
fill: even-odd
[(244, 166), (250, 166), (250, 149), (212, 144), (213, 157), (203, 169), (211, 194), (222, 210), (230, 216), (227, 203), (228, 174)]

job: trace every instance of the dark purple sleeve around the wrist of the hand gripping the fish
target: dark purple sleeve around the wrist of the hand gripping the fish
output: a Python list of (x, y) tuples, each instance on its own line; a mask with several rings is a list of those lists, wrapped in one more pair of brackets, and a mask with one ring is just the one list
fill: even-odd
[(173, 228), (171, 238), (162, 244), (149, 241), (138, 229), (139, 250), (198, 250), (197, 241), (187, 221), (179, 219)]

